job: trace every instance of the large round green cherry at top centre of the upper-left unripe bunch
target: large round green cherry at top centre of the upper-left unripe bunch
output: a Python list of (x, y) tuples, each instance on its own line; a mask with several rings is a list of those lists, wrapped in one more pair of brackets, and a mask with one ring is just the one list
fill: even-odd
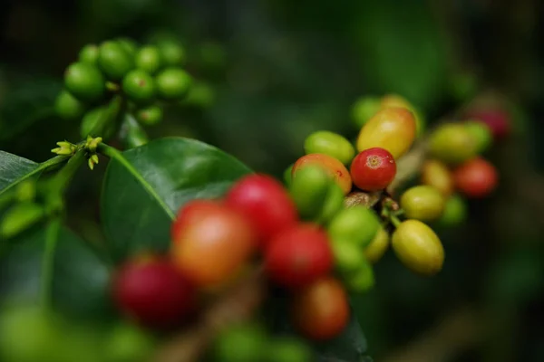
[(98, 66), (111, 81), (121, 81), (134, 68), (131, 53), (118, 42), (105, 42), (100, 46)]

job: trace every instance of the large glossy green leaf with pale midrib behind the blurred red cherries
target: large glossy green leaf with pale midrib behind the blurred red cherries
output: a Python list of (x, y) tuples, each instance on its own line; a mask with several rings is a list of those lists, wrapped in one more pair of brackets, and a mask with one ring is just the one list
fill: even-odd
[(113, 157), (102, 189), (102, 222), (112, 257), (163, 252), (170, 224), (189, 200), (223, 195), (251, 170), (238, 159), (189, 138), (161, 138)]

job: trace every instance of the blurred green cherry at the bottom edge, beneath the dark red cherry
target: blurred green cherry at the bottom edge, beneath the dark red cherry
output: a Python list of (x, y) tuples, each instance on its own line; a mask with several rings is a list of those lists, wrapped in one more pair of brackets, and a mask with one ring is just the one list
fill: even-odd
[(107, 361), (144, 361), (151, 357), (154, 341), (144, 330), (128, 324), (115, 326), (104, 346)]

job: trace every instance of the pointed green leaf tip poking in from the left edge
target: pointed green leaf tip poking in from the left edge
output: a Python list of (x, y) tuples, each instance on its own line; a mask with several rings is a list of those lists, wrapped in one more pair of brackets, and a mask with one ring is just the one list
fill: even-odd
[(40, 164), (0, 151), (0, 195), (19, 182), (38, 173)]

